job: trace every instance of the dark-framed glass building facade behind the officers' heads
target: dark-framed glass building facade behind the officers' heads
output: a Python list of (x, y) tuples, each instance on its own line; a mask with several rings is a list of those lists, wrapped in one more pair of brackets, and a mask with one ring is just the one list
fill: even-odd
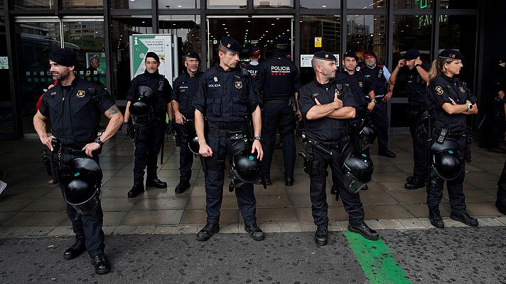
[[(0, 2), (0, 10), (3, 3)], [(154, 3), (156, 6), (152, 6)], [(299, 66), (303, 82), (313, 80), (314, 73), (301, 62), (304, 56), (307, 58), (318, 50), (328, 50), (340, 60), (345, 50), (355, 50), (360, 61), (365, 50), (373, 50), (379, 62), (391, 70), (409, 48), (420, 50), (425, 62), (434, 60), (442, 49), (453, 48), (465, 55), (461, 77), (475, 90), (481, 84), (476, 73), (483, 56), (478, 50), (477, 27), (483, 21), (478, 16), (479, 3), (472, 0), (9, 1), (9, 7), (4, 8), (5, 16), (12, 19), (12, 31), (4, 31), (5, 18), (0, 18), (0, 40), (6, 42), (5, 38), (11, 37), (10, 50), (14, 50), (16, 58), (8, 57), (9, 46), (0, 48), (0, 77), (11, 83), (9, 69), (1, 66), (5, 65), (4, 58), (14, 62), (16, 74), (12, 84), (16, 92), (11, 96), (0, 94), (0, 137), (14, 129), (13, 117), (21, 117), (22, 121), (16, 124), (23, 126), (22, 133), (11, 133), (13, 136), (33, 133), (31, 117), (35, 104), (52, 81), (47, 58), (53, 48), (65, 46), (75, 50), (79, 58), (78, 74), (104, 84), (120, 104), (124, 102), (131, 80), (129, 36), (135, 34), (175, 35), (179, 71), (184, 69), (183, 55), (190, 50), (200, 55), (203, 69), (212, 65), (223, 35), (236, 38), (245, 51), (258, 46), (263, 59), (271, 56), (276, 36), (288, 35), (293, 43), (291, 58)], [(31, 13), (28, 15), (26, 10)], [(439, 13), (436, 15), (435, 11)], [(433, 15), (437, 18), (432, 18)], [(106, 16), (109, 18), (104, 21)], [(246, 53), (242, 60), (249, 60)], [(91, 68), (92, 63), (95, 69)], [(13, 97), (17, 109), (11, 107)], [(392, 127), (404, 127), (406, 119), (399, 109), (406, 102), (406, 97), (392, 98)]]

